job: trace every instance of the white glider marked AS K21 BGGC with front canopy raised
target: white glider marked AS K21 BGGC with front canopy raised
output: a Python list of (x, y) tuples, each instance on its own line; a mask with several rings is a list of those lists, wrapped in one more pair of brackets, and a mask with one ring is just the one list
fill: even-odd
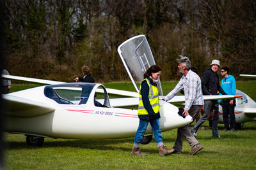
[[(132, 83), (137, 74), (141, 81), (141, 73), (154, 64), (154, 57), (145, 36), (128, 39), (118, 47)], [(131, 62), (127, 64), (127, 61)], [(139, 63), (138, 63), (139, 62)], [(139, 70), (138, 66), (139, 67)], [(135, 72), (134, 72), (135, 71)], [(3, 94), (6, 103), (5, 131), (27, 136), (28, 145), (41, 146), (44, 138), (70, 139), (114, 139), (134, 137), (139, 124), (137, 110), (114, 108), (138, 105), (137, 92), (106, 89), (100, 83), (63, 83), (35, 78), (2, 75), (9, 80), (42, 83), (44, 86)], [(159, 92), (163, 96), (160, 80)], [(129, 98), (109, 99), (108, 93), (128, 96)], [(214, 97), (214, 96), (212, 96)], [(215, 96), (216, 97), (216, 96)], [(234, 96), (218, 96), (234, 98)], [(160, 97), (161, 98), (161, 97)], [(179, 96), (171, 102), (183, 101)], [(217, 99), (217, 98), (208, 98)], [(192, 122), (178, 115), (179, 109), (173, 104), (159, 101), (161, 131), (168, 131)], [(148, 125), (142, 143), (152, 139), (152, 131)]]

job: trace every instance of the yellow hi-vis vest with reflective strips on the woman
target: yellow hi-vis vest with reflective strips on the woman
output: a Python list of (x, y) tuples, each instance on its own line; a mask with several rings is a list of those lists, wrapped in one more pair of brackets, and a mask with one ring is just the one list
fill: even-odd
[[(149, 80), (145, 78), (143, 81), (147, 81), (148, 83), (148, 100), (150, 102), (150, 105), (152, 106), (152, 109), (154, 110), (155, 113), (158, 113), (159, 111), (159, 98), (158, 98), (158, 89), (154, 85), (150, 85)], [(142, 84), (141, 82), (141, 84)], [(140, 85), (140, 91), (139, 91), (139, 107), (138, 107), (138, 115), (148, 115), (148, 111), (144, 108), (143, 102), (142, 102), (142, 96), (141, 96), (141, 85)]]

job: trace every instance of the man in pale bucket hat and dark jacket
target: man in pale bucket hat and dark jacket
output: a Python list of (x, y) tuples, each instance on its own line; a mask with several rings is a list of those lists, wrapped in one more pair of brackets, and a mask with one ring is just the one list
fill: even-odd
[[(202, 78), (202, 91), (204, 95), (218, 95), (226, 94), (220, 87), (219, 75), (217, 73), (220, 68), (219, 60), (212, 60), (211, 67), (207, 69)], [(212, 137), (221, 138), (218, 134), (218, 121), (219, 121), (219, 107), (218, 100), (205, 101), (204, 103), (204, 115), (196, 122), (195, 126), (191, 129), (191, 133), (196, 137), (198, 128), (204, 124), (204, 122), (213, 114), (212, 118)]]

